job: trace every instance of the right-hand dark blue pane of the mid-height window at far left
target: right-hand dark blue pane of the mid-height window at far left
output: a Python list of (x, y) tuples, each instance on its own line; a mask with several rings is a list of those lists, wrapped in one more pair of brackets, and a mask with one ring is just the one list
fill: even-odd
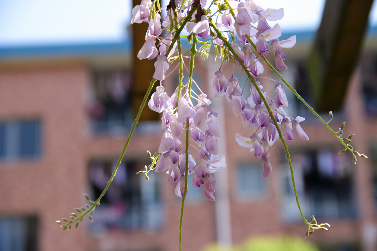
[(40, 150), (40, 122), (21, 122), (20, 129), (20, 157), (38, 157)]

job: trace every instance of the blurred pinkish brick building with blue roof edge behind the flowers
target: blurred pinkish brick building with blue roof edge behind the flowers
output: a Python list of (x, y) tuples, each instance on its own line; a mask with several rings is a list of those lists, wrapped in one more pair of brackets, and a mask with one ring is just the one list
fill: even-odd
[[(337, 129), (347, 121), (344, 135), (356, 133), (352, 146), (370, 158), (354, 165), (349, 155), (338, 155), (341, 144), (286, 91), (287, 113), (306, 118), (301, 125), (310, 138), (288, 144), (303, 212), (331, 224), (308, 238), (321, 250), (377, 249), (375, 33), (366, 40), (342, 111), (329, 123)], [(309, 103), (304, 65), (313, 36), (297, 34), (283, 73)], [(135, 115), (130, 52), (128, 43), (0, 48), (0, 251), (178, 248), (181, 201), (175, 184), (164, 173), (152, 173), (150, 181), (136, 175), (150, 163), (146, 150), (159, 147), (160, 120), (137, 126), (93, 223), (85, 219), (77, 230), (64, 232), (55, 223), (87, 203), (83, 193), (100, 195), (121, 154)], [(194, 79), (205, 93), (219, 61), (198, 61), (195, 67)], [(224, 71), (231, 75), (231, 67)], [(176, 79), (164, 81), (168, 94)], [(270, 82), (262, 85), (273, 91)], [(222, 98), (212, 108), (219, 112), (219, 155), (227, 167), (215, 176), (216, 202), (189, 184), (183, 250), (202, 250), (211, 242), (238, 245), (251, 236), (304, 237), (284, 149), (277, 144), (271, 150), (273, 172), (262, 179), (262, 162), (234, 139), (236, 132), (250, 132)]]

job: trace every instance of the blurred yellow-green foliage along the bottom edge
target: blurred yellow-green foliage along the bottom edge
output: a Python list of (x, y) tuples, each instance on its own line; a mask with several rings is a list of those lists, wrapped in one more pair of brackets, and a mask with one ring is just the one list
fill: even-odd
[(208, 245), (203, 251), (319, 251), (316, 245), (304, 238), (291, 236), (253, 237), (239, 246), (227, 248), (217, 244)]

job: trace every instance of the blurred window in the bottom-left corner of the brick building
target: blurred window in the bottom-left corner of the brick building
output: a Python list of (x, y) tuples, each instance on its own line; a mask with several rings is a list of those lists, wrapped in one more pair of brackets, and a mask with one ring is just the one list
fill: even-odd
[(0, 216), (0, 251), (36, 250), (36, 217)]

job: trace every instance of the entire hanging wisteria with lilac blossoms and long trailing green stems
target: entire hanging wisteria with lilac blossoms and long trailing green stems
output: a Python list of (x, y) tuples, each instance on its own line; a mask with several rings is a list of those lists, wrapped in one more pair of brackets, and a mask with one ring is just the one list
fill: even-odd
[[(221, 137), (217, 120), (218, 114), (212, 110), (207, 94), (196, 94), (192, 90), (192, 84), (196, 84), (192, 78), (195, 57), (198, 54), (208, 57), (210, 49), (215, 48), (215, 59), (219, 54), (222, 64), (219, 70), (215, 71), (215, 76), (210, 83), (213, 89), (213, 98), (225, 96), (234, 116), (240, 117), (244, 128), (250, 130), (247, 137), (237, 133), (235, 140), (241, 147), (250, 149), (254, 157), (264, 163), (263, 178), (266, 178), (272, 171), (269, 160), (270, 149), (277, 141), (281, 141), (290, 164), (297, 205), (309, 228), (305, 237), (308, 237), (314, 230), (327, 230), (328, 224), (317, 224), (314, 216), (310, 222), (307, 221), (300, 209), (286, 143), (293, 141), (295, 137), (302, 140), (309, 140), (309, 137), (300, 126), (300, 122), (305, 119), (300, 116), (290, 117), (284, 111), (284, 107), (288, 106), (284, 86), (291, 89), (297, 98), (307, 105), (345, 146), (345, 149), (339, 153), (346, 150), (351, 151), (354, 163), (356, 163), (356, 156), (366, 156), (352, 149), (350, 143), (354, 134), (348, 138), (341, 138), (345, 123), (339, 128), (339, 131), (333, 131), (328, 126), (333, 118), (332, 113), (329, 113), (330, 120), (325, 122), (279, 74), (278, 70), (287, 69), (287, 65), (284, 63), (286, 55), (283, 48), (292, 48), (296, 44), (295, 36), (279, 40), (282, 33), (279, 24), (271, 27), (268, 23), (282, 19), (283, 9), (263, 9), (255, 0), (213, 0), (210, 3), (209, 1), (207, 3), (207, 0), (170, 0), (169, 5), (166, 6), (167, 15), (165, 17), (162, 17), (162, 9), (164, 8), (161, 8), (158, 0), (142, 0), (140, 5), (132, 9), (131, 23), (146, 22), (149, 24), (145, 43), (137, 57), (139, 59), (156, 59), (155, 72), (107, 187), (115, 176), (152, 87), (156, 81), (159, 81), (160, 84), (152, 94), (148, 106), (153, 111), (161, 113), (161, 142), (153, 156), (148, 152), (152, 164), (138, 173), (145, 174), (147, 180), (149, 180), (147, 174), (151, 170), (167, 173), (168, 180), (173, 180), (176, 183), (175, 193), (182, 197), (179, 228), (180, 249), (183, 206), (188, 193), (189, 175), (192, 175), (193, 187), (203, 188), (205, 197), (215, 201), (213, 183), (216, 181), (212, 174), (225, 167), (225, 158), (219, 156), (218, 151), (218, 138)], [(182, 32), (189, 35), (183, 36)], [(187, 41), (191, 44), (191, 49), (187, 53), (182, 53), (181, 38), (183, 37), (187, 37)], [(203, 45), (197, 49), (198, 44)], [(269, 53), (274, 55), (276, 68), (266, 58)], [(183, 83), (184, 56), (190, 58), (187, 83)], [(223, 64), (232, 61), (233, 71), (225, 74), (222, 70)], [(175, 92), (169, 96), (165, 92), (163, 81), (171, 73), (169, 68), (172, 64), (179, 66), (179, 81)], [(264, 87), (258, 81), (259, 78), (265, 78), (261, 74), (264, 73), (266, 65), (279, 78), (279, 81), (268, 79), (274, 85), (274, 93), (270, 95), (265, 92)], [(241, 86), (242, 84), (239, 83), (241, 75), (234, 76), (235, 67), (241, 68), (241, 75), (244, 73), (247, 76), (248, 81), (251, 82), (251, 88), (245, 88), (246, 83), (243, 87)], [(231, 77), (229, 78), (229, 76)], [(193, 100), (196, 100), (195, 105)], [(67, 227), (69, 229), (74, 222), (80, 222), (88, 212), (92, 212), (107, 187), (97, 201), (90, 201), (93, 205), (87, 207), (88, 209), (84, 210), (83, 215), (71, 215), (72, 221), (65, 223), (58, 221), (63, 230)], [(92, 219), (91, 217), (92, 213), (90, 213), (90, 219)]]

